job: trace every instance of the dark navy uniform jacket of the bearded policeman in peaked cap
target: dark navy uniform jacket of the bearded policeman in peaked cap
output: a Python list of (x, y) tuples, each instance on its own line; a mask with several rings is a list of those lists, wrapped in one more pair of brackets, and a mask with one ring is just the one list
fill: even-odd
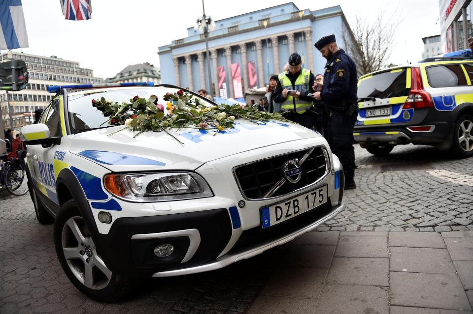
[(357, 90), (355, 62), (339, 49), (325, 65), (322, 101), (329, 108), (340, 106), (343, 101), (356, 101)]

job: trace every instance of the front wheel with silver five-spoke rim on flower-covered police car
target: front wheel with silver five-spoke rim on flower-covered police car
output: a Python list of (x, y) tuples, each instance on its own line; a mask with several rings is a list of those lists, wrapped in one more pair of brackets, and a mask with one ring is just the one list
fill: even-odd
[(136, 279), (115, 274), (107, 268), (75, 200), (61, 206), (54, 224), (54, 244), (70, 282), (88, 297), (115, 302), (134, 288)]

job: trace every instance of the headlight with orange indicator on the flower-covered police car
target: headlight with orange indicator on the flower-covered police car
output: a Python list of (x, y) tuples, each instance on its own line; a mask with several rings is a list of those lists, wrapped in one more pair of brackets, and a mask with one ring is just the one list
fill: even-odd
[(213, 196), (203, 178), (192, 172), (110, 173), (103, 177), (108, 192), (137, 202), (188, 200)]

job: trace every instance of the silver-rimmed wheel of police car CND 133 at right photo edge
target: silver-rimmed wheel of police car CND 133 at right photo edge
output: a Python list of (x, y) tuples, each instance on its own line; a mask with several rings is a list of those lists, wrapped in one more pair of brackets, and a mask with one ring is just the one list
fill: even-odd
[(453, 128), (452, 150), (456, 156), (466, 158), (473, 156), (473, 116), (463, 114), (458, 117)]

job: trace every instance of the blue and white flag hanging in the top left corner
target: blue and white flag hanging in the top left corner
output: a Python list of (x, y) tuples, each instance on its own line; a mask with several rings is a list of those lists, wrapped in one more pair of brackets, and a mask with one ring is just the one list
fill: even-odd
[(21, 0), (0, 0), (0, 50), (28, 47)]

